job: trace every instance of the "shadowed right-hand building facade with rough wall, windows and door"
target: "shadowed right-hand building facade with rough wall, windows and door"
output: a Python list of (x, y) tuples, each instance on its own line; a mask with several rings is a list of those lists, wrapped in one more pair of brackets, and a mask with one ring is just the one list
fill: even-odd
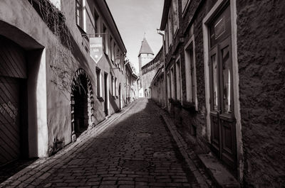
[[(185, 138), (244, 187), (285, 183), (284, 8), (267, 0), (164, 4), (165, 69), (152, 97), (162, 104), (166, 94)], [(157, 92), (162, 82), (165, 93)]]

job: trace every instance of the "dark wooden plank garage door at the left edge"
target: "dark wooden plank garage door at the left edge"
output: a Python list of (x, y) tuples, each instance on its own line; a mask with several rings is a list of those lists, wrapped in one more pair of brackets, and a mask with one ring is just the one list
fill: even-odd
[(0, 165), (21, 157), (25, 79), (24, 50), (0, 36)]

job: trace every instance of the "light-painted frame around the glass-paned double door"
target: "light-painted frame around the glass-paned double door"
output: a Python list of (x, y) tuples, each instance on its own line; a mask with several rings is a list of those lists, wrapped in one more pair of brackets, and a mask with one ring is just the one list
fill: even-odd
[[(224, 6), (229, 3), (231, 11), (231, 48), (232, 48), (232, 78), (233, 78), (233, 99), (234, 116), (236, 118), (236, 143), (237, 143), (237, 177), (243, 179), (243, 150), (242, 150), (242, 124), (239, 102), (239, 68), (237, 61), (237, 0), (218, 0), (202, 21), (203, 45), (204, 45), (204, 76), (205, 76), (205, 97), (207, 109), (207, 138), (211, 143), (211, 121), (210, 121), (210, 83), (209, 83), (209, 30), (208, 24)], [(206, 133), (205, 133), (206, 134)], [(206, 136), (206, 135), (205, 135)]]

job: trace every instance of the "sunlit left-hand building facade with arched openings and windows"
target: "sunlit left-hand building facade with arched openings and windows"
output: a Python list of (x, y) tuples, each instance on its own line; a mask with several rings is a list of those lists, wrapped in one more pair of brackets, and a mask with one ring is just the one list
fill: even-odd
[(0, 12), (0, 165), (52, 155), (125, 106), (126, 49), (105, 0), (4, 0)]

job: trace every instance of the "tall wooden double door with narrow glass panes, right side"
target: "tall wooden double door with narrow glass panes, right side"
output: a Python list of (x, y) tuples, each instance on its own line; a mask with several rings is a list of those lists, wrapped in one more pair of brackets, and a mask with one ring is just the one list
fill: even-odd
[(233, 170), (237, 166), (237, 142), (232, 87), (232, 49), (229, 6), (209, 24), (211, 145)]

